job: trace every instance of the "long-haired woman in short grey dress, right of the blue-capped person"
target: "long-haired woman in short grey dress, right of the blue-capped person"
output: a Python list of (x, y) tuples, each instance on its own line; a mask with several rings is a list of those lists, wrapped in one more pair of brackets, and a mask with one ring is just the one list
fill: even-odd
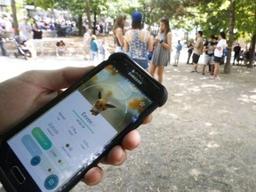
[(169, 20), (166, 17), (160, 20), (160, 35), (155, 38), (156, 44), (153, 52), (149, 73), (155, 75), (157, 70), (158, 82), (163, 83), (164, 66), (170, 62), (172, 50), (172, 33), (169, 25)]

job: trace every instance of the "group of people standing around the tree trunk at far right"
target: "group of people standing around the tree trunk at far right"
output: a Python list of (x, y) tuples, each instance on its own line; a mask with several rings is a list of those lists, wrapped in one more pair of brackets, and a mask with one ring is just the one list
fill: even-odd
[[(244, 64), (247, 66), (250, 60), (251, 48), (245, 47), (245, 51), (237, 43), (233, 48), (234, 60), (233, 66), (236, 64)], [(193, 53), (194, 52), (194, 53)], [(193, 53), (193, 55), (192, 55)], [(209, 72), (211, 73), (211, 79), (219, 78), (220, 65), (225, 64), (225, 60), (228, 54), (228, 46), (226, 41), (226, 34), (220, 32), (219, 36), (210, 36), (204, 41), (203, 32), (198, 31), (196, 34), (196, 43), (191, 40), (188, 44), (188, 61), (187, 64), (193, 64), (192, 73), (197, 73), (197, 66), (200, 56), (204, 53), (204, 63), (202, 68), (202, 75), (205, 75), (205, 68), (209, 66)], [(192, 63), (190, 63), (190, 57), (192, 55)], [(256, 61), (256, 58), (254, 58)]]

